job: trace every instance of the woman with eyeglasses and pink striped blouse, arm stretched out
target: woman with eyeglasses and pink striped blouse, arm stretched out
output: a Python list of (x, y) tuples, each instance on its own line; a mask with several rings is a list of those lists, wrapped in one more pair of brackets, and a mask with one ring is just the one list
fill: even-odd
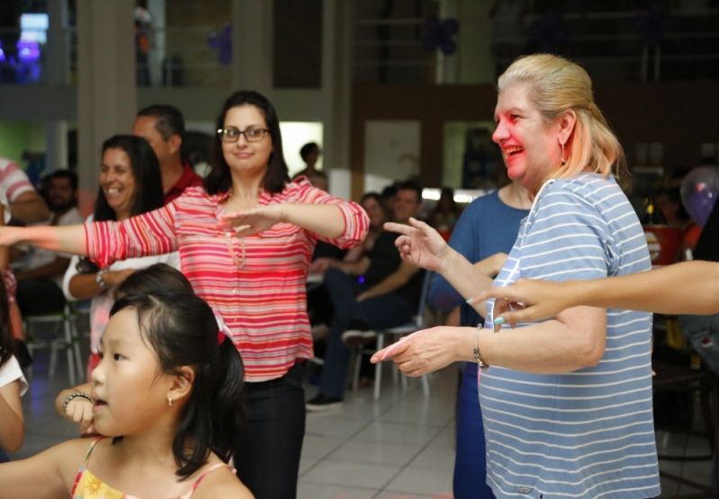
[(184, 275), (224, 318), (245, 362), (238, 477), (257, 498), (295, 497), (305, 424), (297, 361), (312, 357), (310, 256), (319, 239), (359, 245), (367, 215), (306, 180), (290, 182), (274, 107), (251, 91), (232, 94), (220, 111), (204, 187), (119, 222), (3, 228), (0, 245), (86, 254), (102, 267), (178, 251)]

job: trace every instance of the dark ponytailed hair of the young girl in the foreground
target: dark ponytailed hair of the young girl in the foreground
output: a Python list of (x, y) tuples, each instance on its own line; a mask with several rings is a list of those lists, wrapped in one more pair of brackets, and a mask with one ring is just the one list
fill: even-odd
[(211, 451), (228, 462), (244, 423), (244, 368), (229, 338), (218, 344), (210, 306), (193, 293), (152, 290), (124, 295), (110, 316), (124, 308), (135, 309), (140, 335), (156, 353), (163, 373), (176, 374), (183, 366), (194, 371), (172, 443), (177, 476), (190, 477)]

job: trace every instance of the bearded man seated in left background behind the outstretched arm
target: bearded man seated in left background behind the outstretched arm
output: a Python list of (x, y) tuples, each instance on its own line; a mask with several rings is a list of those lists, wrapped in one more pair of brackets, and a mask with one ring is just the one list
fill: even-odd
[[(83, 217), (77, 209), (77, 175), (58, 170), (44, 180), (43, 197), (50, 209), (51, 226), (81, 224)], [(65, 307), (62, 277), (67, 271), (70, 256), (41, 248), (29, 248), (22, 258), (22, 271), (16, 272), (17, 304), (22, 314), (48, 314)]]

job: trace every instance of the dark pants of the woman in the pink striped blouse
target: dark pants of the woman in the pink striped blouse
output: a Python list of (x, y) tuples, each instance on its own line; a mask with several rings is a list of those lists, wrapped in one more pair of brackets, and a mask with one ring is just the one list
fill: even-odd
[(235, 468), (257, 499), (294, 499), (300, 473), (305, 408), (298, 364), (280, 379), (245, 384), (247, 425)]

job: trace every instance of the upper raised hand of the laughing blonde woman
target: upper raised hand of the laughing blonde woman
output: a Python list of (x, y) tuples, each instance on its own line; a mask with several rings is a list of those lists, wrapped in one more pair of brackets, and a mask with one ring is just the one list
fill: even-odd
[(394, 244), (402, 260), (429, 271), (441, 270), (449, 246), (434, 228), (416, 218), (409, 218), (409, 225), (387, 222), (384, 228), (400, 234)]

